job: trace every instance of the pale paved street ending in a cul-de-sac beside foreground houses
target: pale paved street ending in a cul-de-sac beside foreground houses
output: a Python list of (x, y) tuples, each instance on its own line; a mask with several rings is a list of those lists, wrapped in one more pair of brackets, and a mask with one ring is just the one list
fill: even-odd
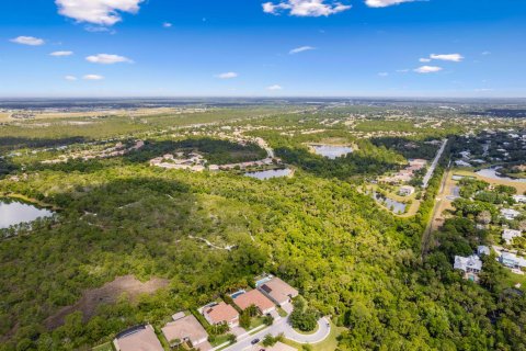
[(281, 318), (278, 320), (274, 320), (274, 324), (265, 328), (253, 336), (245, 336), (242, 338), (239, 338), (238, 342), (224, 349), (225, 351), (242, 351), (245, 349), (249, 349), (252, 347), (252, 340), (260, 339), (263, 340), (267, 333), (276, 337), (279, 333), (284, 333), (285, 338), (290, 339), (293, 341), (299, 342), (299, 343), (317, 343), (321, 342), (329, 337), (329, 333), (331, 332), (331, 327), (329, 324), (329, 320), (327, 318), (321, 318), (318, 320), (318, 330), (315, 333), (311, 335), (301, 335), (299, 332), (296, 332), (293, 327), (288, 324), (288, 318)]

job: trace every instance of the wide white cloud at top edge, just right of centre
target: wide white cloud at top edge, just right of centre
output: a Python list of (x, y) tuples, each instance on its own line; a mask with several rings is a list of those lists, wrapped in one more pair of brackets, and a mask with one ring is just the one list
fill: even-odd
[(282, 2), (263, 3), (263, 12), (272, 14), (281, 14), (287, 12), (296, 16), (329, 16), (339, 12), (351, 9), (351, 5), (343, 4), (339, 1), (325, 0), (284, 0)]

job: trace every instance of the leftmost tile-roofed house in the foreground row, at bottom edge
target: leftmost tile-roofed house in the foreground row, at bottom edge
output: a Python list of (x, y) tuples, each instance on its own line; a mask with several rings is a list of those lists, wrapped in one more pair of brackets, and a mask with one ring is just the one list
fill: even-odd
[(137, 326), (119, 332), (113, 340), (117, 351), (164, 351), (150, 325)]

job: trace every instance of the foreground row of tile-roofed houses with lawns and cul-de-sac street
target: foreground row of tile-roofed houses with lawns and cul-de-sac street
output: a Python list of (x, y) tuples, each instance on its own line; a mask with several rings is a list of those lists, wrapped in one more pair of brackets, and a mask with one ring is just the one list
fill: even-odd
[(327, 318), (318, 320), (319, 326), (312, 333), (298, 332), (291, 327), (288, 316), (298, 296), (298, 291), (288, 283), (263, 274), (254, 288), (239, 290), (196, 309), (178, 312), (159, 329), (150, 324), (134, 326), (115, 336), (106, 349), (94, 350), (297, 350), (284, 341), (321, 342), (331, 330)]

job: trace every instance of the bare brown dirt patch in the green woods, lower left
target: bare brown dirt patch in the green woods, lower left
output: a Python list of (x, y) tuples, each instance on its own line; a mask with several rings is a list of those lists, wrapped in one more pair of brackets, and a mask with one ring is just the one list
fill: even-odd
[(60, 327), (64, 325), (66, 316), (77, 310), (82, 312), (84, 321), (87, 321), (95, 315), (99, 305), (113, 304), (123, 293), (126, 293), (129, 299), (134, 302), (139, 295), (153, 294), (159, 288), (168, 286), (168, 280), (158, 278), (142, 283), (134, 275), (118, 276), (101, 287), (85, 291), (77, 304), (61, 308), (57, 314), (47, 318), (45, 325), (48, 329)]

